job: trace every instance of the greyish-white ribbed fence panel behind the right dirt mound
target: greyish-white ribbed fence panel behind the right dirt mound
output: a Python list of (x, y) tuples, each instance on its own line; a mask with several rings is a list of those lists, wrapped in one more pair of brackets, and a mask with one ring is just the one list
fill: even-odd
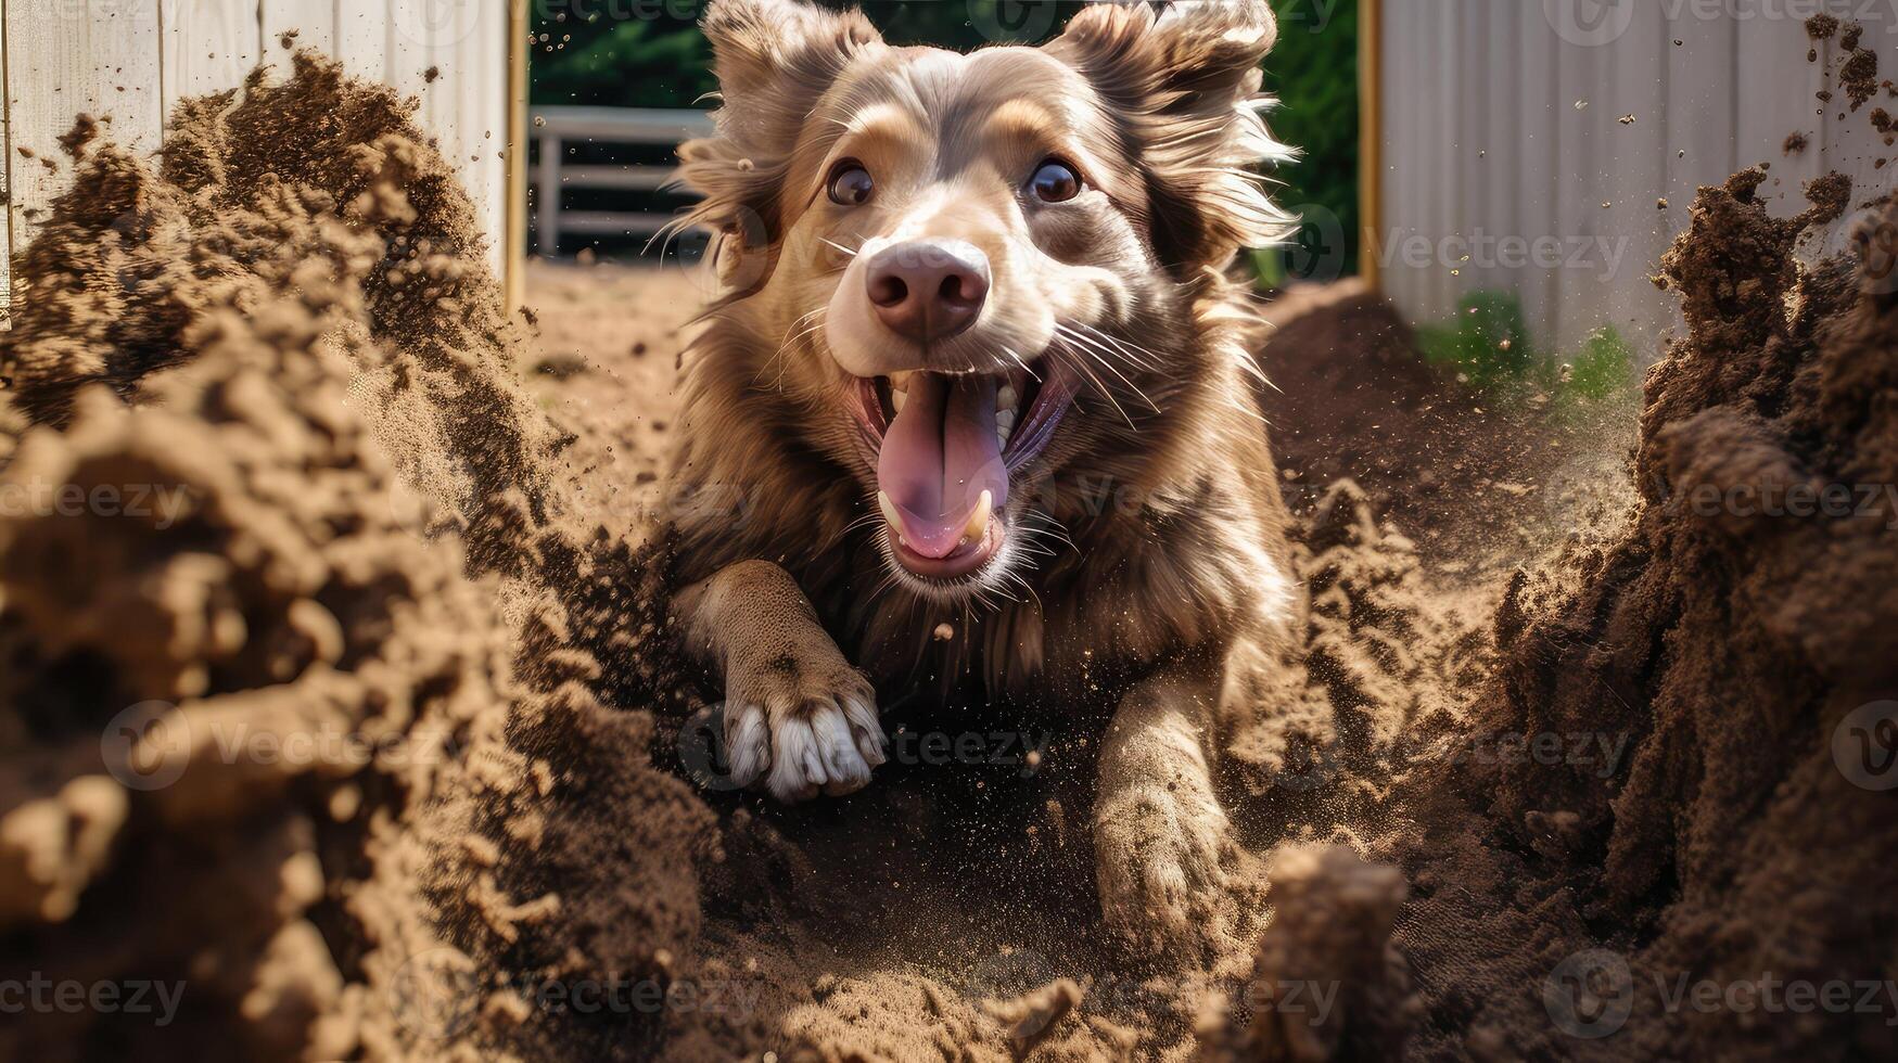
[[(1365, 247), (1380, 285), (1416, 321), (1505, 289), (1545, 347), (1613, 325), (1657, 351), (1676, 313), (1647, 277), (1697, 186), (1771, 163), (1763, 192), (1790, 214), (1822, 173), (1851, 175), (1852, 203), (1898, 177), (1877, 167), (1898, 150), (1870, 120), (1898, 101), (1879, 91), (1851, 112), (1839, 40), (1805, 30), (1822, 11), (1862, 21), (1879, 78), (1898, 76), (1887, 0), (1382, 0), (1380, 220)], [(1809, 146), (1788, 156), (1794, 133)]]

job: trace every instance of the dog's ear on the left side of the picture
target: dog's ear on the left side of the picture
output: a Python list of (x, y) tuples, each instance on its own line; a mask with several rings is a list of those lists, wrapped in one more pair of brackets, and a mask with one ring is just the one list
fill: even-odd
[(744, 245), (774, 241), (774, 196), (805, 118), (850, 59), (883, 38), (862, 11), (801, 0), (712, 0), (704, 32), (723, 103), (717, 133), (679, 146), (679, 177), (704, 196), (691, 220)]

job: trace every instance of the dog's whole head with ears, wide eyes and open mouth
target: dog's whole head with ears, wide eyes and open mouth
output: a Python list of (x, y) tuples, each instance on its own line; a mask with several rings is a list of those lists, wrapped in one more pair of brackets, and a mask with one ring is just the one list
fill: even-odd
[[(721, 0), (719, 135), (683, 148), (767, 351), (911, 590), (998, 587), (1033, 486), (1163, 416), (1194, 287), (1283, 218), (1243, 169), (1264, 0), (1103, 6), (1034, 47), (888, 47), (862, 15)], [(1139, 406), (1139, 412), (1127, 406)]]

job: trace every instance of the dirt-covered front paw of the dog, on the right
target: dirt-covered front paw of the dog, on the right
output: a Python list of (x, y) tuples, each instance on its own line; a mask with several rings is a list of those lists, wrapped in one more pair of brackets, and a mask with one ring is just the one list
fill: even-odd
[(1224, 809), (1190, 782), (1127, 788), (1095, 811), (1101, 915), (1152, 957), (1207, 955), (1236, 858)]

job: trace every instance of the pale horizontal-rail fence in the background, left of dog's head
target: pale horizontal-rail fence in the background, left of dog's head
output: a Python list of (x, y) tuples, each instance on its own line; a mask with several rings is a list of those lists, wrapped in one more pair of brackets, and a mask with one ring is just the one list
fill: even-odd
[(560, 252), (560, 233), (651, 235), (672, 214), (642, 211), (568, 211), (568, 188), (609, 188), (657, 192), (672, 180), (670, 165), (569, 165), (566, 146), (588, 144), (664, 144), (678, 146), (693, 137), (708, 137), (712, 120), (702, 110), (651, 110), (630, 106), (539, 106), (533, 108), (533, 137), (541, 142), (541, 161), (533, 167), (535, 209), (533, 243), (543, 256)]

